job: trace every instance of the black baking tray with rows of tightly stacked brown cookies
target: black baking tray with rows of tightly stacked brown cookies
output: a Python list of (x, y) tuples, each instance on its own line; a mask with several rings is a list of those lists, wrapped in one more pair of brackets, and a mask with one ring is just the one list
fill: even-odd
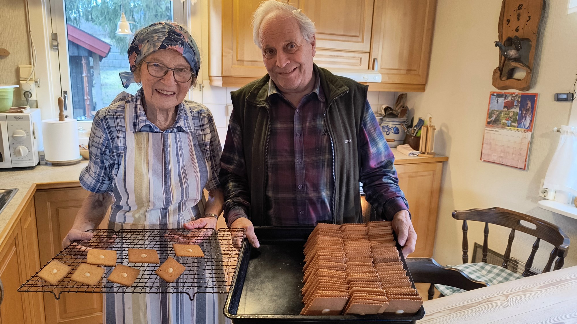
[(257, 227), (224, 313), (233, 323), (415, 323), (422, 299), (391, 223)]

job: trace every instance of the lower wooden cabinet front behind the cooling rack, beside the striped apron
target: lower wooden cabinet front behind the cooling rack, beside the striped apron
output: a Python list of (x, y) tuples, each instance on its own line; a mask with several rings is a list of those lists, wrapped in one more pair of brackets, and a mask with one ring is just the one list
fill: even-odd
[[(62, 250), (62, 240), (72, 228), (74, 217), (88, 191), (81, 187), (38, 190), (34, 196), (36, 222), (40, 246), (40, 263), (46, 264)], [(105, 218), (103, 224), (107, 223)], [(100, 228), (105, 228), (100, 225)], [(56, 300), (44, 295), (46, 323), (100, 324), (102, 323), (102, 294), (62, 293)]]

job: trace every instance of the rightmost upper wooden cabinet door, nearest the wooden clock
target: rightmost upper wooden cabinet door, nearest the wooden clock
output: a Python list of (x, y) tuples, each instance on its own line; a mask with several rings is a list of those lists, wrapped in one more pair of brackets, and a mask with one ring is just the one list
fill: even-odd
[(383, 81), (369, 88), (425, 91), (436, 7), (436, 0), (375, 1), (370, 59)]

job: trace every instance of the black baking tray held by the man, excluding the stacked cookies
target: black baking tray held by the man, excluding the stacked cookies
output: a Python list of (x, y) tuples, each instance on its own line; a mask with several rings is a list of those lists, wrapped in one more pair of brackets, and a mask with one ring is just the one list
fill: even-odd
[[(339, 324), (374, 321), (415, 323), (425, 316), (422, 306), (414, 315), (299, 315), (304, 307), (301, 289), (305, 257), (302, 250), (313, 229), (255, 227), (260, 247), (252, 248), (245, 240), (224, 315), (233, 323)], [(415, 288), (400, 247), (397, 248)]]

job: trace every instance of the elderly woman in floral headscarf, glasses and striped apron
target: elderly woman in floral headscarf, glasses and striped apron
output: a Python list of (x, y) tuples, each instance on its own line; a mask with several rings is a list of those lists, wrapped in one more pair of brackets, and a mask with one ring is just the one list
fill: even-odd
[[(215, 228), (222, 212), (222, 153), (211, 112), (184, 100), (196, 82), (200, 54), (180, 25), (156, 22), (134, 34), (125, 88), (95, 115), (90, 160), (80, 183), (90, 191), (63, 240), (92, 238), (111, 206), (108, 228)], [(208, 190), (204, 213), (198, 202)], [(219, 323), (224, 295), (104, 294), (104, 322)]]

